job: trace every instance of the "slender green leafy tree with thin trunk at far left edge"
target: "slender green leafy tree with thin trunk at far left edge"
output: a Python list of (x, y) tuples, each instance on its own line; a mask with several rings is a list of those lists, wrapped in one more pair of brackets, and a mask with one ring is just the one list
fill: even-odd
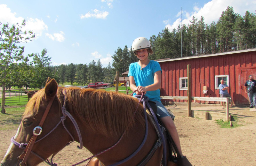
[[(0, 22), (0, 26), (2, 23)], [(1, 112), (5, 113), (5, 85), (8, 82), (8, 75), (11, 73), (9, 68), (11, 64), (24, 61), (28, 62), (28, 57), (23, 55), (24, 46), (20, 46), (20, 43), (30, 41), (35, 37), (32, 31), (22, 31), (22, 28), (26, 25), (25, 20), (21, 25), (9, 26), (4, 24), (0, 31), (0, 84), (3, 87), (2, 91), (2, 103)]]

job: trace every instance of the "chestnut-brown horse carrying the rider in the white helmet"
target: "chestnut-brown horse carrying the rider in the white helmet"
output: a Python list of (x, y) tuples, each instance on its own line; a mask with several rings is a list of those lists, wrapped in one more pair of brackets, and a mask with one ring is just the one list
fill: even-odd
[[(148, 125), (148, 136), (140, 151), (120, 164), (121, 166), (138, 165), (148, 156), (159, 137), (152, 123), (150, 121), (145, 123), (142, 104), (136, 109), (137, 105), (138, 100), (129, 95), (95, 89), (58, 88), (57, 82), (48, 78), (45, 88), (39, 90), (28, 102), (20, 127), (13, 139), (14, 143), (11, 143), (1, 166), (19, 164), (35, 166), (52, 154), (57, 154), (72, 141), (72, 137), (92, 154), (98, 154), (116, 145), (97, 156), (103, 165), (115, 164), (129, 157), (140, 147), (145, 138), (145, 126)], [(49, 113), (45, 116), (48, 110)], [(70, 134), (64, 125), (57, 125), (63, 117), (63, 110), (67, 110), (72, 115), (80, 131), (75, 127), (72, 118), (67, 117), (63, 121)], [(45, 120), (41, 120), (44, 121), (43, 130), (36, 138), (33, 129), (41, 125), (42, 117), (45, 117)], [(56, 129), (52, 130), (55, 126)], [(25, 149), (25, 152), (31, 150), (31, 153), (24, 157), (25, 154), (20, 147), (22, 143), (31, 144), (34, 137), (36, 140), (34, 145)], [(162, 157), (163, 144), (157, 146), (155, 153), (143, 165), (160, 166)], [(23, 160), (26, 158), (25, 162), (21, 162), (22, 158)]]

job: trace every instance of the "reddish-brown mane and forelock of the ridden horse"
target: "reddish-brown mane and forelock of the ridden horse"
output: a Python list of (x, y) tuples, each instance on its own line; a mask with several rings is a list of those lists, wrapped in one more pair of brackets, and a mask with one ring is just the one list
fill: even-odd
[[(92, 131), (106, 137), (120, 136), (135, 123), (145, 125), (143, 106), (138, 99), (121, 93), (75, 87), (58, 88), (57, 96), (60, 109), (66, 96), (66, 109)], [(37, 113), (40, 103), (45, 101), (44, 89), (39, 90), (27, 104), (24, 114)], [(33, 103), (33, 104), (32, 104)], [(61, 104), (62, 103), (62, 104)], [(45, 106), (46, 107), (46, 106)]]

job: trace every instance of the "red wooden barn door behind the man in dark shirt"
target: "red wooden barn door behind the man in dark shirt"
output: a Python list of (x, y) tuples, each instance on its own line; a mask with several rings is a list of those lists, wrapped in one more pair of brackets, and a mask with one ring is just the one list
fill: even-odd
[(245, 81), (248, 79), (248, 76), (252, 75), (253, 79), (256, 79), (256, 68), (255, 66), (252, 67), (244, 67), (244, 69), (241, 69), (239, 80), (239, 86), (241, 87), (241, 97), (239, 97), (239, 104), (249, 104), (249, 98), (247, 96), (247, 93), (244, 92), (244, 84)]

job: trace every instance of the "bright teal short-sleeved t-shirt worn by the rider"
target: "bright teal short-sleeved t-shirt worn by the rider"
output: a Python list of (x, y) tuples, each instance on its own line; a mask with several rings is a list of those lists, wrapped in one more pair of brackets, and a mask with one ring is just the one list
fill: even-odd
[[(138, 62), (135, 62), (130, 64), (128, 77), (134, 77), (136, 86), (146, 87), (154, 83), (154, 73), (157, 71), (161, 71), (162, 74), (160, 64), (156, 61), (149, 61), (148, 65), (142, 70), (140, 70), (140, 65), (138, 64)], [(133, 96), (135, 95), (136, 94), (134, 93)], [(151, 101), (161, 102), (160, 89), (157, 89), (155, 91), (147, 91), (146, 96), (148, 96), (149, 100)]]

